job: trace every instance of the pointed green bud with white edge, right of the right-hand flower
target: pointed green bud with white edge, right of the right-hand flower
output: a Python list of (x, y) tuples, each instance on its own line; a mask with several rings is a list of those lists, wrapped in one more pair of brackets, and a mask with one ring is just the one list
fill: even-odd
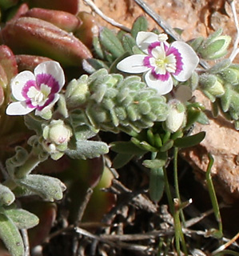
[(222, 30), (218, 30), (214, 35), (205, 40), (204, 44), (198, 50), (201, 58), (217, 59), (227, 53), (231, 38), (229, 35), (221, 35), (221, 32)]

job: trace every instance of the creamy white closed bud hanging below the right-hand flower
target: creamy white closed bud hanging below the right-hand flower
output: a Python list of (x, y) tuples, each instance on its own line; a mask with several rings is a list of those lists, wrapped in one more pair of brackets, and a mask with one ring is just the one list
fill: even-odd
[(176, 99), (169, 101), (169, 114), (165, 121), (166, 129), (175, 133), (185, 124), (185, 106)]

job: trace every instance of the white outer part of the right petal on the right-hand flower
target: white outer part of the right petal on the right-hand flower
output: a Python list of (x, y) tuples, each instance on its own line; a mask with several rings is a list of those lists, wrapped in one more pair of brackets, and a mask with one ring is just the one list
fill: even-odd
[(176, 41), (173, 42), (171, 46), (175, 47), (179, 51), (184, 64), (183, 70), (181, 70), (179, 74), (173, 76), (177, 81), (184, 82), (191, 77), (193, 70), (195, 70), (198, 65), (199, 58), (193, 48), (185, 42)]

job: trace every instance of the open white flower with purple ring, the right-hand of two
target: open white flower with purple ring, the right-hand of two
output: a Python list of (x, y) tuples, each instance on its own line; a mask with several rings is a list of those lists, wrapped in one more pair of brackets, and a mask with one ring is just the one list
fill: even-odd
[(145, 82), (149, 87), (159, 94), (169, 93), (173, 89), (173, 78), (179, 82), (188, 80), (199, 58), (185, 42), (175, 41), (169, 45), (166, 40), (166, 34), (139, 32), (136, 43), (145, 54), (123, 59), (117, 65), (118, 70), (132, 74), (145, 72)]

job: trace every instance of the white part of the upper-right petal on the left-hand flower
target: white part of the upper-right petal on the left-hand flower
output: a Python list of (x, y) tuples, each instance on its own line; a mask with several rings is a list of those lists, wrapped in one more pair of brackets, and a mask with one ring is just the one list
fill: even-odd
[(65, 75), (62, 70), (62, 66), (58, 62), (48, 61), (40, 63), (35, 69), (34, 74), (51, 74), (57, 81), (60, 86), (60, 90), (65, 84)]

